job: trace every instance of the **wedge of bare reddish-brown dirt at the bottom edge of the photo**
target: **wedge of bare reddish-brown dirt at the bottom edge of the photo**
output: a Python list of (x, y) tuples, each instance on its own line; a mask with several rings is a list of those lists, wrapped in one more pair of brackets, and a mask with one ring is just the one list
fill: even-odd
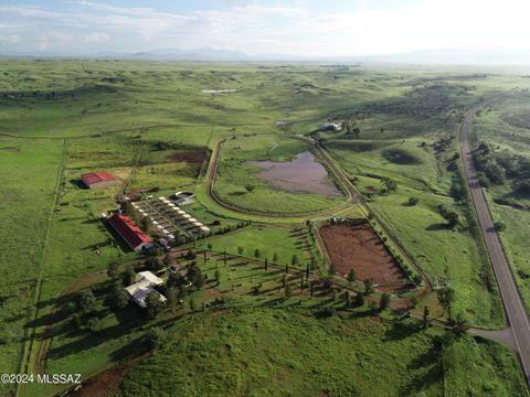
[(119, 385), (119, 382), (124, 377), (127, 369), (132, 365), (140, 362), (144, 357), (149, 355), (149, 353), (141, 356), (135, 357), (128, 361), (125, 364), (118, 365), (112, 369), (107, 369), (99, 375), (96, 375), (89, 378), (86, 383), (83, 384), (81, 388), (75, 391), (68, 393), (68, 397), (106, 397), (114, 394), (116, 388)]

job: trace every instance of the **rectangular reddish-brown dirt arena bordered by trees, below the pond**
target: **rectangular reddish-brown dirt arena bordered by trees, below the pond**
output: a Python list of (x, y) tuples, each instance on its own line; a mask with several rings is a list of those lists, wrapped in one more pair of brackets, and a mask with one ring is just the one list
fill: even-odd
[(370, 225), (325, 225), (320, 236), (339, 275), (346, 276), (353, 269), (359, 280), (395, 285), (398, 289), (407, 282), (405, 273)]

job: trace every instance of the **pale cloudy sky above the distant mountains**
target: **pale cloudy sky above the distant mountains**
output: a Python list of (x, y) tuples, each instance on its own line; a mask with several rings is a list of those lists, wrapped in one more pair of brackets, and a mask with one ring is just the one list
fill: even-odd
[(0, 54), (528, 49), (529, 0), (0, 0)]

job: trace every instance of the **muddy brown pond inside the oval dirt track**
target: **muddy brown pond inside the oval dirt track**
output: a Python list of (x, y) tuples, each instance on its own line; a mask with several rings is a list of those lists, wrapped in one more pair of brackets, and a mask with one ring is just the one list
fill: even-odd
[(328, 172), (315, 161), (310, 151), (298, 153), (292, 161), (247, 161), (250, 165), (265, 169), (256, 178), (272, 182), (276, 187), (289, 192), (316, 193), (341, 197), (340, 191), (327, 179)]

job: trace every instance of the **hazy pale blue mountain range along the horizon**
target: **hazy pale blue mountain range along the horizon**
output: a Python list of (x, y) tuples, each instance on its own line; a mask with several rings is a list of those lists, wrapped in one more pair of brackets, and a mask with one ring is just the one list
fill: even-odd
[(84, 57), (137, 61), (214, 61), (214, 62), (342, 62), (436, 65), (529, 65), (530, 49), (524, 50), (423, 50), (400, 54), (371, 56), (304, 56), (289, 54), (250, 55), (240, 51), (219, 49), (161, 49), (136, 53), (74, 54), (60, 52), (9, 53), (0, 57)]

